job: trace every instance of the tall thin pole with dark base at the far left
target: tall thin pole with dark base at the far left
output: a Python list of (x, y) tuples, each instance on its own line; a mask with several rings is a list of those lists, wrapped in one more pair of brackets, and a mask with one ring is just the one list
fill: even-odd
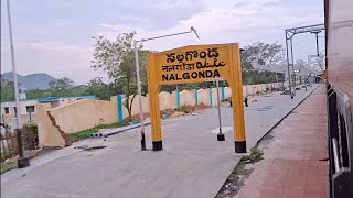
[(18, 158), (18, 167), (24, 168), (30, 166), (30, 157), (23, 155), (23, 145), (22, 145), (22, 121), (21, 121), (21, 107), (20, 107), (20, 99), (19, 99), (19, 84), (18, 84), (18, 73), (15, 69), (15, 62), (14, 62), (14, 48), (13, 48), (13, 41), (12, 41), (12, 26), (11, 26), (11, 13), (10, 13), (10, 1), (7, 0), (7, 8), (8, 8), (8, 23), (9, 23), (9, 36), (10, 36), (10, 51), (11, 51), (11, 63), (12, 63), (12, 73), (13, 73), (13, 86), (14, 86), (14, 99), (15, 99), (15, 127), (17, 127), (17, 135), (18, 135), (18, 146), (19, 146), (19, 155)]

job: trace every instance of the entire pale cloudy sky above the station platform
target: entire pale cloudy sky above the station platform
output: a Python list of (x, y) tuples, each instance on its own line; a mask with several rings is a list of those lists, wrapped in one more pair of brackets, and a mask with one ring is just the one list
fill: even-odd
[[(184, 45), (261, 41), (285, 44), (285, 30), (323, 23), (323, 0), (10, 0), (18, 73), (67, 76), (77, 85), (103, 72), (90, 67), (93, 36), (137, 38), (189, 31), (192, 34), (146, 42), (165, 51)], [(1, 0), (1, 73), (11, 70), (6, 0)], [(321, 36), (323, 33), (321, 33)], [(320, 37), (320, 51), (323, 38)], [(295, 59), (315, 54), (313, 34), (296, 35)]]

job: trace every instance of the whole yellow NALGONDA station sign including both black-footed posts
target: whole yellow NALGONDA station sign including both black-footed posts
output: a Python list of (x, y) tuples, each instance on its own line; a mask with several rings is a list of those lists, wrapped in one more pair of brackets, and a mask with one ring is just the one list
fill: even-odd
[(161, 85), (226, 80), (232, 88), (234, 143), (246, 153), (239, 45), (184, 46), (148, 55), (148, 87), (153, 151), (162, 150), (159, 90)]

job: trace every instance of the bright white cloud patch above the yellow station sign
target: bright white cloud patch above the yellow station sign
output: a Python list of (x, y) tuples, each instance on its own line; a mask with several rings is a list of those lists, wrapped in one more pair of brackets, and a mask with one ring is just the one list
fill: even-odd
[[(194, 15), (180, 20), (168, 29), (149, 30), (140, 25), (126, 25), (119, 23), (104, 23), (99, 26), (99, 35), (110, 38), (122, 32), (137, 32), (137, 38), (146, 38), (175, 32), (183, 32), (190, 26), (195, 26), (202, 43), (228, 43), (240, 42), (243, 45), (256, 41), (276, 42), (284, 41), (284, 30), (322, 22), (318, 12), (302, 14), (298, 8), (286, 7), (279, 0), (238, 0), (233, 7), (211, 8), (214, 2), (203, 1), (208, 9)], [(165, 2), (168, 4), (168, 2)], [(169, 6), (157, 7), (172, 9), (185, 7), (184, 1), (175, 1)], [(175, 36), (146, 43), (146, 47), (161, 51), (186, 44), (196, 44), (192, 36)]]

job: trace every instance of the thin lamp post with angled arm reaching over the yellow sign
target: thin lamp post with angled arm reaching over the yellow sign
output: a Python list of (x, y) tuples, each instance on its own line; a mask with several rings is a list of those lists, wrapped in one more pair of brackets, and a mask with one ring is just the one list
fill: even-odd
[(189, 34), (189, 33), (192, 33), (196, 37), (196, 40), (200, 41), (197, 32), (193, 26), (191, 26), (190, 31), (186, 31), (186, 32), (167, 34), (167, 35), (157, 36), (157, 37), (142, 38), (142, 40), (139, 40), (139, 41), (133, 40), (135, 62), (136, 62), (136, 76), (137, 76), (137, 89), (139, 91), (139, 108), (140, 108), (140, 120), (141, 120), (141, 150), (142, 151), (146, 150), (146, 138), (145, 138), (145, 120), (143, 120), (143, 107), (142, 107), (140, 65), (139, 65), (139, 54), (138, 54), (137, 44), (138, 43), (143, 43), (143, 42), (150, 41), (150, 40), (158, 40), (158, 38), (162, 38), (162, 37), (170, 37), (170, 36)]

